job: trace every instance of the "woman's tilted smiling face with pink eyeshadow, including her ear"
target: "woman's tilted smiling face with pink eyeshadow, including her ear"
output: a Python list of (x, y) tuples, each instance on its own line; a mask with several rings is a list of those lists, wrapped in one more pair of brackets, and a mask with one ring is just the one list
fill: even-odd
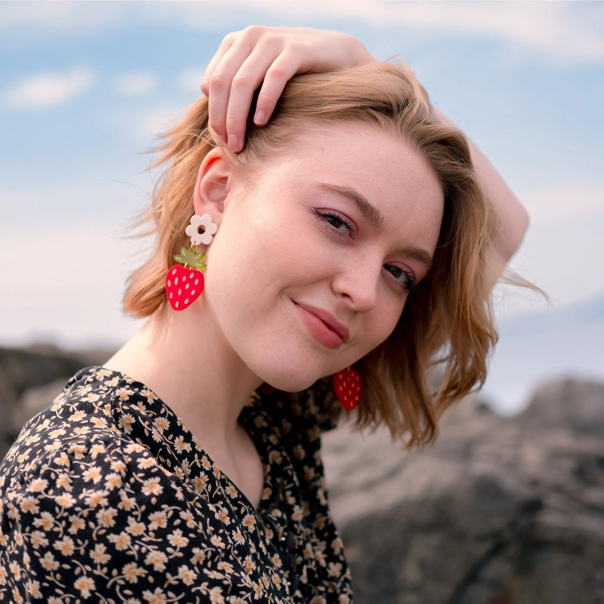
[(196, 188), (197, 213), (220, 221), (202, 303), (260, 379), (303, 390), (393, 331), (429, 269), (442, 188), (407, 143), (364, 125), (312, 130), (247, 181), (230, 173), (210, 207), (225, 166)]

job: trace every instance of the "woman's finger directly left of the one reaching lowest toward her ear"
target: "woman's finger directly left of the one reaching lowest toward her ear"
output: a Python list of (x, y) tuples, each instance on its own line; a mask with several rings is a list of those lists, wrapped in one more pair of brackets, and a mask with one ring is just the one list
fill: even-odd
[(226, 109), (233, 77), (248, 58), (252, 46), (245, 40), (237, 40), (220, 59), (210, 76), (208, 86), (208, 123), (226, 143)]

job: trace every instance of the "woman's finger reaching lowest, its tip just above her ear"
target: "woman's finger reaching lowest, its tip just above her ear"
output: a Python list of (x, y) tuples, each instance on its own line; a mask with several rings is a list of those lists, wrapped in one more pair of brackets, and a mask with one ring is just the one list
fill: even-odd
[(231, 92), (226, 110), (226, 132), (229, 147), (234, 152), (243, 149), (245, 129), (254, 91), (266, 77), (280, 51), (276, 46), (255, 48), (237, 71), (231, 83)]

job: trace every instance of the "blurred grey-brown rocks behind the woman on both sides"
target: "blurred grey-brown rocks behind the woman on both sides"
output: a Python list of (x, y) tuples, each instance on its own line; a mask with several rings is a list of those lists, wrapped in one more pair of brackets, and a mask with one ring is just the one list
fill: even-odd
[[(0, 349), (0, 457), (110, 355)], [(604, 603), (603, 384), (551, 382), (509, 419), (464, 401), (411, 454), (347, 424), (323, 445), (356, 604)]]

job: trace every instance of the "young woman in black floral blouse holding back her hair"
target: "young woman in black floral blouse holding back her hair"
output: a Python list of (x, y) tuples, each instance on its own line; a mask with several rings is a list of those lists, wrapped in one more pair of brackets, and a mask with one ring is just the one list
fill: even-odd
[(358, 402), (359, 426), (421, 445), (484, 381), (527, 217), (413, 74), (342, 34), (252, 27), (203, 88), (126, 289), (149, 320), (0, 468), (4, 600), (351, 602), (321, 431)]

